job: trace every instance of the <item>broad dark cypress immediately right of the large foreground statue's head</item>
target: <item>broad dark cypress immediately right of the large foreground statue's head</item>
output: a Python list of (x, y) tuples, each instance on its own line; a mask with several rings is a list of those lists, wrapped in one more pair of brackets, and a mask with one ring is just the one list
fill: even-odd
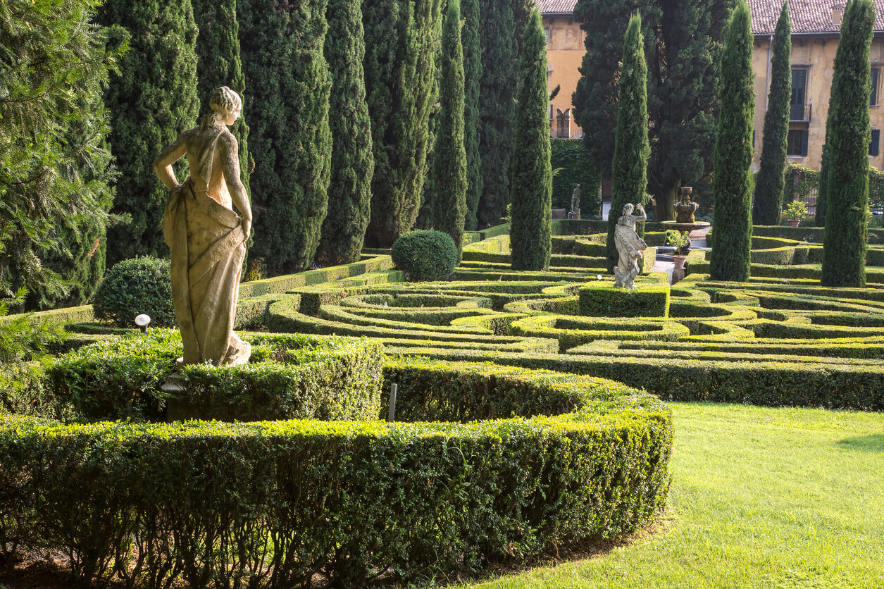
[(331, 170), (326, 0), (237, 5), (249, 113), (255, 245), (271, 275), (309, 267), (328, 207)]

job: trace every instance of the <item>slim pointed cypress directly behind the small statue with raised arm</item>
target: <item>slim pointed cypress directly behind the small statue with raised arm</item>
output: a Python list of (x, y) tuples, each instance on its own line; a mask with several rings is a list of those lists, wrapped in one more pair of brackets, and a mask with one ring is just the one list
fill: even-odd
[[(626, 203), (644, 203), (648, 185), (647, 165), (651, 146), (648, 144), (648, 65), (644, 60), (642, 17), (636, 12), (629, 19), (623, 39), (623, 66), (617, 101), (617, 132), (614, 137), (613, 197), (608, 215), (607, 268), (617, 265), (617, 246), (613, 241), (617, 218)], [(643, 227), (636, 227), (644, 233)]]

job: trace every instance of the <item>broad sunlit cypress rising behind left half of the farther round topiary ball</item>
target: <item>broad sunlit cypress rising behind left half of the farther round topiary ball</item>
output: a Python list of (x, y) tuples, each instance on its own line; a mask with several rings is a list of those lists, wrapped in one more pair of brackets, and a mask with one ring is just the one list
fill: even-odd
[(390, 247), (415, 223), (436, 103), (439, 0), (367, 0), (365, 91), (375, 172), (370, 242)]

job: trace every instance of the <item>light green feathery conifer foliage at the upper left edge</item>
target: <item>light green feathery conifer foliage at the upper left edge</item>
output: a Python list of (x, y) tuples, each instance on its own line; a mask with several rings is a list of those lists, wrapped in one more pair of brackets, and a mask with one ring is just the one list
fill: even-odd
[(0, 296), (25, 287), (29, 306), (82, 302), (104, 272), (114, 168), (102, 94), (126, 32), (90, 25), (98, 4), (0, 4)]

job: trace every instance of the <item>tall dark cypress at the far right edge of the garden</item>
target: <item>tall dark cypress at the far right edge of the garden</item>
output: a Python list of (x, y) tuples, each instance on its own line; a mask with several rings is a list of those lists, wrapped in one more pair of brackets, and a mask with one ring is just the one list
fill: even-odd
[(869, 47), (875, 6), (850, 0), (834, 56), (826, 142), (831, 150), (820, 281), (865, 287), (865, 210), (869, 205)]

